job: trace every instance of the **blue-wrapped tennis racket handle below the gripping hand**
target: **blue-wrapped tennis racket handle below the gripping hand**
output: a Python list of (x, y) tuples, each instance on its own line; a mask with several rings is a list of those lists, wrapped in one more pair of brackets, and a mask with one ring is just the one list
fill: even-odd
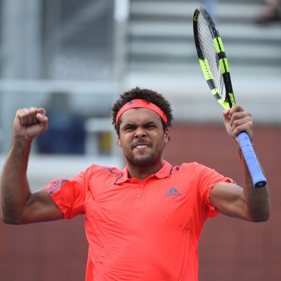
[(264, 187), (266, 185), (266, 179), (262, 172), (261, 166), (254, 152), (253, 146), (250, 142), (249, 136), (246, 132), (241, 132), (238, 136), (238, 141), (248, 165), (254, 187)]

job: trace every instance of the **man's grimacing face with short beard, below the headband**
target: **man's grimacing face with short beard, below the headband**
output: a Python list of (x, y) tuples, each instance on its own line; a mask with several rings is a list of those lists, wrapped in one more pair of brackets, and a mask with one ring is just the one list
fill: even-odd
[(125, 111), (120, 119), (118, 144), (128, 163), (148, 166), (162, 161), (169, 129), (163, 131), (161, 117), (151, 109)]

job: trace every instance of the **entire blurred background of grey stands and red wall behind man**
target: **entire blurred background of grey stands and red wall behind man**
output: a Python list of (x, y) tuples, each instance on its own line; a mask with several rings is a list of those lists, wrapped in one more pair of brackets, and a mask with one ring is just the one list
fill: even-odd
[[(0, 0), (0, 171), (16, 110), (31, 106), (46, 108), (49, 118), (47, 132), (32, 146), (32, 190), (92, 163), (123, 169), (110, 107), (119, 94), (139, 86), (172, 103), (166, 160), (197, 161), (242, 185), (239, 157), (194, 45), (194, 10), (207, 7), (223, 38), (236, 102), (253, 116), (272, 213), (261, 224), (222, 215), (209, 219), (199, 243), (199, 280), (281, 280), (281, 21), (257, 19), (266, 4)], [(0, 222), (3, 281), (84, 280), (86, 262), (82, 217), (28, 226)]]

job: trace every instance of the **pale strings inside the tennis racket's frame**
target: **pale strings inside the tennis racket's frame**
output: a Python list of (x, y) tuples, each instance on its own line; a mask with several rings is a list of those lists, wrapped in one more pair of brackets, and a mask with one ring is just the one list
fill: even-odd
[[(217, 89), (217, 93), (222, 100), (225, 100), (225, 86), (223, 81), (223, 76), (219, 64), (219, 56), (216, 51), (211, 32), (209, 30), (206, 19), (199, 13), (197, 21), (197, 30), (199, 37), (199, 44), (206, 58), (207, 64), (206, 68), (209, 72), (210, 79), (213, 79), (213, 87)], [(211, 89), (212, 90), (212, 89)]]

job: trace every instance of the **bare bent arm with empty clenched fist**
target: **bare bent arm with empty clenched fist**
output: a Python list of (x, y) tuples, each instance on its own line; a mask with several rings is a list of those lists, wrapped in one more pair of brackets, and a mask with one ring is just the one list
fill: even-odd
[(13, 125), (12, 144), (5, 161), (0, 185), (1, 219), (23, 224), (62, 219), (62, 211), (45, 189), (31, 193), (26, 172), (34, 138), (47, 130), (45, 109), (19, 109)]

